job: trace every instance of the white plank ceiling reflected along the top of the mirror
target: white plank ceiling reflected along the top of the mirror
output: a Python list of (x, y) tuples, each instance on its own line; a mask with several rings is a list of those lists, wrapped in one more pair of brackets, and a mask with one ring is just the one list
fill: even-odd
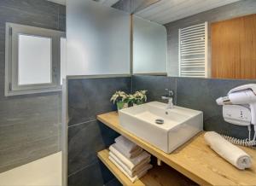
[(239, 0), (160, 0), (136, 13), (145, 20), (166, 24)]

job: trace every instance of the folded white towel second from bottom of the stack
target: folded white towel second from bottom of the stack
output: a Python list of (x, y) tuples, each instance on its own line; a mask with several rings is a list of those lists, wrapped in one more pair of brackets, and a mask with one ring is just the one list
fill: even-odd
[(113, 153), (109, 152), (109, 157), (113, 158), (113, 160), (115, 160), (115, 162), (118, 163), (119, 166), (121, 166), (124, 169), (124, 171), (126, 171), (127, 174), (129, 174), (130, 177), (135, 177), (140, 172), (151, 169), (153, 167), (152, 165), (149, 164), (149, 162), (150, 162), (150, 159), (149, 159), (149, 160), (146, 160), (145, 162), (143, 162), (143, 164), (140, 164), (139, 166), (137, 166), (137, 168), (135, 170), (131, 171)]

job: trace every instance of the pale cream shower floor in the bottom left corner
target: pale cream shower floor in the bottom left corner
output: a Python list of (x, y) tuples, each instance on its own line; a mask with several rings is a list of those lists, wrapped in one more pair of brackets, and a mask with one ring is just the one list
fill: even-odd
[(0, 174), (0, 186), (61, 186), (61, 152)]

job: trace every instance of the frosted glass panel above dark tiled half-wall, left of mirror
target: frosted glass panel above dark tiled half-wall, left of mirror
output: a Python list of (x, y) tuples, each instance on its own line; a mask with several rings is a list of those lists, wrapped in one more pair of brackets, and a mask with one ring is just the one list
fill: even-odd
[(130, 15), (67, 0), (67, 75), (130, 73)]

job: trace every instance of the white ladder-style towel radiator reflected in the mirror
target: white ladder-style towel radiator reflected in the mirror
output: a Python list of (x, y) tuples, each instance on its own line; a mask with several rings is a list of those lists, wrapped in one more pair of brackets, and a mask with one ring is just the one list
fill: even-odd
[(178, 30), (180, 77), (207, 78), (207, 22)]

